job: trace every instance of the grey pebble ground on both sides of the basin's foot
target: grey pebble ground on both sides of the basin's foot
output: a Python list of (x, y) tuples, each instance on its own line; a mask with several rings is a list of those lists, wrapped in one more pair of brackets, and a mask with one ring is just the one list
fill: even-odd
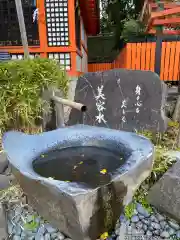
[[(70, 240), (39, 217), (27, 204), (12, 205), (9, 209), (8, 233), (13, 240)], [(180, 225), (156, 210), (150, 214), (140, 204), (136, 204), (132, 218), (128, 220), (122, 215), (115, 232), (107, 239), (178, 240)]]

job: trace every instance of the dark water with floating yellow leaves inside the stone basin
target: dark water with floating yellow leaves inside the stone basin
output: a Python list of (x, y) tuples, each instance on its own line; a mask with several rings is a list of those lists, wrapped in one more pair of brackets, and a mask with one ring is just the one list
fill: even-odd
[(125, 162), (119, 152), (103, 147), (68, 147), (56, 149), (33, 161), (36, 173), (46, 178), (77, 182), (90, 188), (107, 184)]

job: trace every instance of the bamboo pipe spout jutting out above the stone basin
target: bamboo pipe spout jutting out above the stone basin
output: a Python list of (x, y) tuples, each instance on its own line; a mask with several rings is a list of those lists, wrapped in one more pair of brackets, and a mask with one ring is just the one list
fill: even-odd
[(87, 106), (85, 106), (82, 103), (77, 103), (77, 102), (70, 101), (70, 100), (64, 99), (64, 98), (60, 98), (60, 97), (57, 97), (57, 96), (54, 96), (54, 95), (51, 97), (51, 99), (58, 102), (58, 103), (66, 105), (68, 107), (75, 108), (75, 109), (77, 109), (81, 112), (86, 112), (87, 111)]

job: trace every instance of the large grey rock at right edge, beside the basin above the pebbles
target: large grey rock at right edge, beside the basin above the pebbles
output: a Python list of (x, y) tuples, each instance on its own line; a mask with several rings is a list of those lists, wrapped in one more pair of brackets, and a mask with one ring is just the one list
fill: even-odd
[(148, 200), (160, 211), (180, 221), (180, 161), (150, 189)]

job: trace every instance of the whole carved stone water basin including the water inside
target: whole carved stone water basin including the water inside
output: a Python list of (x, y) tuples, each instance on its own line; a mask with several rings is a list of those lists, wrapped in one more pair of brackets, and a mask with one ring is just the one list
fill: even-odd
[(154, 147), (134, 133), (75, 125), (3, 137), (29, 204), (73, 240), (110, 231), (151, 172)]

